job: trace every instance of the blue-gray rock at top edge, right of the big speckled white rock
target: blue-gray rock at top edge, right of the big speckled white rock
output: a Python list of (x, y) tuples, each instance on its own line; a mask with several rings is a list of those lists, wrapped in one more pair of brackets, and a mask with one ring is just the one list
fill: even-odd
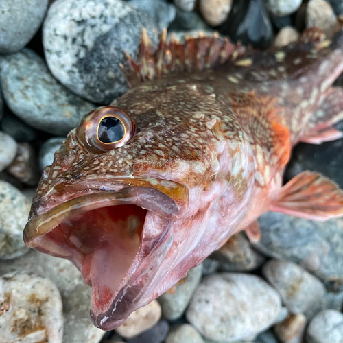
[(174, 5), (167, 3), (165, 0), (130, 0), (128, 4), (140, 10), (147, 11), (156, 23), (158, 23), (160, 30), (168, 27), (176, 16)]

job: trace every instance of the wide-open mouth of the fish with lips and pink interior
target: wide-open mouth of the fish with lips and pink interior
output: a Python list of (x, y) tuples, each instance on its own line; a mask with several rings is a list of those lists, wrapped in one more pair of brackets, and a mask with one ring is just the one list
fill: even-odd
[[(84, 196), (78, 196), (79, 187), (70, 200), (33, 215), (24, 230), (28, 246), (78, 267), (92, 287), (95, 318), (110, 311), (132, 276), (145, 273), (140, 270), (143, 260), (161, 250), (168, 223), (178, 219), (188, 203), (187, 189), (176, 182), (128, 182), (115, 180), (116, 191), (93, 187)], [(148, 281), (145, 277), (144, 287)]]

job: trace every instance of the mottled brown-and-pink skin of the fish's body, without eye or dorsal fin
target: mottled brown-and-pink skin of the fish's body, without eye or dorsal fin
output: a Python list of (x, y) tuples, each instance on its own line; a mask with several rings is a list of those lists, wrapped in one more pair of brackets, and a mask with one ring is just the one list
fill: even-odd
[[(71, 259), (82, 270), (92, 286), (95, 325), (118, 327), (268, 211), (280, 193), (291, 147), (307, 131), (316, 136), (318, 123), (326, 128), (342, 119), (343, 97), (330, 102), (332, 118), (318, 115), (343, 71), (342, 47), (342, 33), (331, 42), (312, 30), (283, 49), (246, 51), (211, 69), (140, 83), (111, 104), (132, 118), (137, 133), (109, 152), (92, 152), (75, 130), (69, 133), (44, 171), (24, 237), (29, 246)], [(34, 225), (40, 217), (39, 225), (48, 222), (44, 214), (69, 200), (136, 185), (169, 192), (179, 211), (174, 217), (147, 212), (139, 252), (120, 287), (108, 291), (108, 303), (98, 305), (103, 286), (110, 288), (102, 280), (107, 274), (84, 272), (84, 257), (68, 255), (64, 238), (52, 230), (45, 239), (47, 229), (42, 224), (34, 231)], [(329, 191), (343, 209), (340, 190)], [(308, 207), (311, 217), (316, 204)], [(334, 215), (342, 214), (335, 208)], [(86, 212), (84, 218), (86, 225)]]

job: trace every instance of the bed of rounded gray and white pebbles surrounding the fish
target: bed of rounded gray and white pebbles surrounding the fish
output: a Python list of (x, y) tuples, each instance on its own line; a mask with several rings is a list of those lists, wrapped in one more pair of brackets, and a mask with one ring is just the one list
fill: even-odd
[[(265, 213), (259, 243), (235, 235), (108, 333), (91, 324), (74, 265), (22, 240), (40, 173), (69, 130), (128, 89), (119, 63), (142, 27), (155, 43), (168, 27), (265, 49), (305, 27), (331, 37), (342, 15), (343, 0), (0, 1), (0, 343), (342, 343), (343, 220)], [(343, 139), (298, 145), (286, 178), (311, 169), (343, 187), (342, 149)]]

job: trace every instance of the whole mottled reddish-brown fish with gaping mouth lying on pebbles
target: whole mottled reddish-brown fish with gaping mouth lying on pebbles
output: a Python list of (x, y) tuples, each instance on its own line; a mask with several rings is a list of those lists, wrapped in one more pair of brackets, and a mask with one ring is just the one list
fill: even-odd
[(119, 327), (235, 233), (258, 241), (266, 211), (342, 217), (343, 191), (327, 177), (283, 184), (294, 145), (343, 136), (342, 31), (255, 51), (166, 30), (154, 47), (143, 30), (122, 69), (129, 91), (71, 130), (23, 232), (82, 272), (95, 326)]

